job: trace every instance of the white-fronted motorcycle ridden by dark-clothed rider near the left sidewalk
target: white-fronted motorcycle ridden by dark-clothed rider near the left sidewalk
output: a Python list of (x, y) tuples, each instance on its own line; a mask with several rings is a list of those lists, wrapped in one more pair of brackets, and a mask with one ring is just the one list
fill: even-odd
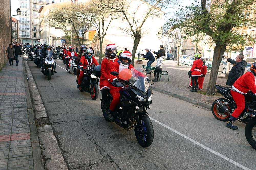
[(44, 71), (42, 72), (44, 75), (47, 76), (47, 80), (51, 80), (51, 75), (54, 75), (54, 65), (55, 65), (55, 60), (52, 56), (52, 51), (47, 50), (47, 57), (42, 57), (44, 59)]

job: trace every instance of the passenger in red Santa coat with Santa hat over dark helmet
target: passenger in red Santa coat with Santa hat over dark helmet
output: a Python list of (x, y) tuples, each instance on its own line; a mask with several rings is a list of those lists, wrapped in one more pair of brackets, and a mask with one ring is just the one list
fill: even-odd
[(106, 45), (105, 49), (106, 55), (105, 58), (101, 62), (101, 76), (100, 76), (100, 90), (102, 91), (100, 99), (101, 106), (105, 106), (106, 97), (108, 94), (108, 90), (110, 89), (110, 80), (109, 80), (109, 70), (111, 65), (118, 61), (116, 58), (116, 45), (115, 44), (108, 44)]

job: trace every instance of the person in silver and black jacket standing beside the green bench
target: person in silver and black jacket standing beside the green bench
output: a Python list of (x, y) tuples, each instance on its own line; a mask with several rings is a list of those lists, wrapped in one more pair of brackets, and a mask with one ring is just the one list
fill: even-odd
[[(156, 54), (156, 68), (155, 68), (155, 71), (154, 71), (154, 77), (155, 79), (152, 80), (154, 82), (158, 82), (158, 78), (159, 78), (159, 74), (162, 73), (162, 65), (163, 65), (163, 62), (164, 62), (164, 46), (163, 45), (160, 45), (159, 47), (160, 49), (155, 52), (155, 51), (152, 51), (154, 54)], [(151, 50), (151, 49), (150, 49)]]

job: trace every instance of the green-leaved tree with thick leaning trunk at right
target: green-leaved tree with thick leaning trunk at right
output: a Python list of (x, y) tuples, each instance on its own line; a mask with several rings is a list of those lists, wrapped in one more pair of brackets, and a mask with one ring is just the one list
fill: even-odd
[(221, 55), (229, 44), (245, 44), (246, 40), (252, 40), (247, 34), (241, 34), (242, 28), (255, 27), (255, 11), (251, 9), (256, 0), (201, 0), (196, 4), (180, 9), (178, 15), (182, 20), (169, 19), (172, 28), (185, 28), (189, 35), (197, 33), (211, 36), (216, 46), (210, 81), (207, 87), (207, 95), (214, 93), (218, 68), (222, 60)]

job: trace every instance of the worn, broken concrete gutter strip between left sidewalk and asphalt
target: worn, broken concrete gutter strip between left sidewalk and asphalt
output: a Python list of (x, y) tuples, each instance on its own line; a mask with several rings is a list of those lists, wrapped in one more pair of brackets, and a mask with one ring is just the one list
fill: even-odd
[[(25, 58), (23, 57), (26, 75), (29, 78), (27, 80), (27, 85), (29, 85), (29, 97), (30, 98), (30, 104), (31, 104), (31, 111), (33, 112), (34, 108), (34, 115), (31, 117), (31, 119), (36, 119), (36, 122), (40, 122), (41, 124), (37, 127), (34, 121), (34, 127), (36, 130), (38, 129), (38, 139), (40, 141), (38, 142), (41, 146), (41, 148), (38, 146), (35, 148), (35, 152), (40, 153), (41, 160), (42, 157), (44, 158), (44, 163), (42, 163), (43, 166), (45, 166), (45, 169), (47, 170), (68, 170), (66, 162), (61, 154), (57, 139), (54, 135), (54, 132), (52, 130), (52, 126), (50, 125), (48, 115), (46, 113), (44, 104), (42, 102), (41, 96), (39, 94), (38, 88), (36, 86), (36, 83), (34, 81), (34, 77), (30, 71), (30, 68), (27, 64), (27, 60), (25, 61)], [(27, 78), (26, 77), (26, 78)], [(37, 135), (37, 134), (36, 134)], [(37, 149), (37, 150), (36, 150)], [(35, 168), (37, 170), (37, 168)], [(41, 170), (41, 169), (40, 169)]]

